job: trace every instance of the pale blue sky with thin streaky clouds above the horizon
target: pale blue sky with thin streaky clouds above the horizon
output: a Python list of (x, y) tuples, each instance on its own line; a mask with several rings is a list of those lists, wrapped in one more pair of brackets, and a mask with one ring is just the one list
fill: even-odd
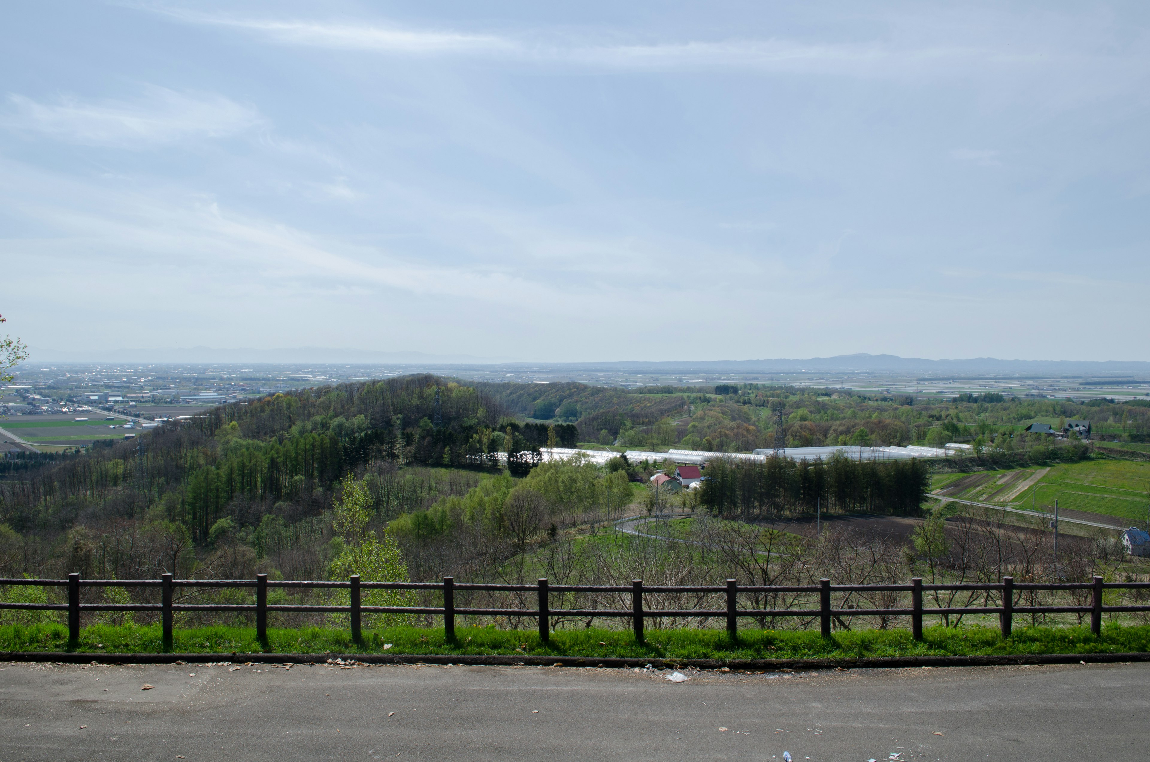
[(1150, 360), (1145, 2), (99, 2), (0, 24), (32, 351)]

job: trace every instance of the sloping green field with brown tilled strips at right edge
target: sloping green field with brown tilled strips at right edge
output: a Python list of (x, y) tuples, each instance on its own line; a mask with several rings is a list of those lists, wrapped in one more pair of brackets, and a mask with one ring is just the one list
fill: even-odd
[[(931, 490), (950, 497), (980, 502), (1007, 502), (1019, 508), (1034, 505), (1049, 511), (1060, 508), (1114, 516), (1129, 521), (1145, 521), (1150, 505), (1150, 462), (1083, 460), (1050, 466), (1033, 485), (1014, 494), (1036, 467), (936, 474)], [(965, 480), (965, 481), (964, 481)]]

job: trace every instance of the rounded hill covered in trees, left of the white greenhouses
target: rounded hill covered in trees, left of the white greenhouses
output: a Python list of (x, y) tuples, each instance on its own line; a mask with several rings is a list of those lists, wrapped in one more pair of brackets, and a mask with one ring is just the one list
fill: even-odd
[(320, 512), (331, 483), (370, 460), (474, 464), (505, 449), (505, 416), (498, 399), (431, 375), (277, 394), (12, 472), (0, 524), (51, 536), (159, 509), (205, 542), (225, 515), (258, 525), (273, 505), (289, 521)]

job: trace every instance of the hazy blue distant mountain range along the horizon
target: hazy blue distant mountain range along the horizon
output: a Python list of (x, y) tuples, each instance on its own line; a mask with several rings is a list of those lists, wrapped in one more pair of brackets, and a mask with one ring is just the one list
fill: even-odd
[(36, 363), (154, 363), (164, 365), (276, 364), (300, 363), (348, 365), (401, 365), (446, 369), (450, 366), (499, 365), (508, 369), (543, 372), (615, 372), (684, 375), (707, 373), (912, 373), (917, 375), (1011, 375), (1011, 376), (1130, 376), (1150, 378), (1150, 363), (1136, 360), (1000, 360), (994, 357), (928, 360), (896, 355), (839, 355), (810, 359), (764, 360), (622, 360), (610, 363), (523, 363), (498, 357), (471, 355), (430, 355), (427, 352), (383, 352), (359, 349), (298, 346), (281, 349), (117, 349), (92, 351), (36, 350)]

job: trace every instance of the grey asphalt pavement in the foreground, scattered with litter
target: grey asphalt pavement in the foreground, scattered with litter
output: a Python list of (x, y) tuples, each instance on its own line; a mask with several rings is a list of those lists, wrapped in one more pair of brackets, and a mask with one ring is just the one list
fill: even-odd
[(1150, 664), (688, 672), (681, 684), (534, 666), (0, 666), (3, 762), (781, 762), (784, 750), (798, 762), (1114, 762), (1145, 759), (1150, 709)]

